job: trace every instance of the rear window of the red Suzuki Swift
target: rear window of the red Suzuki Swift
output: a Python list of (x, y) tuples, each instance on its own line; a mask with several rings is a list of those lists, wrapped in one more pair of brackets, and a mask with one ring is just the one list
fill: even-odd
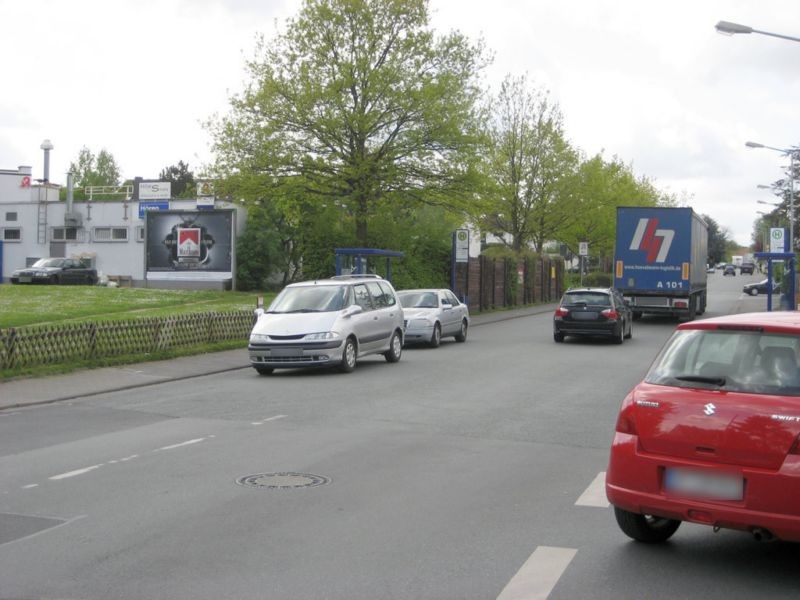
[(753, 330), (676, 331), (647, 383), (800, 396), (800, 337)]

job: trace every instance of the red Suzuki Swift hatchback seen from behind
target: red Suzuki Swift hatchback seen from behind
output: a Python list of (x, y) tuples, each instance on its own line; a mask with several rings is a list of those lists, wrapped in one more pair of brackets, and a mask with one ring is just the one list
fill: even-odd
[(606, 472), (622, 531), (682, 521), (800, 541), (800, 313), (684, 323), (623, 400)]

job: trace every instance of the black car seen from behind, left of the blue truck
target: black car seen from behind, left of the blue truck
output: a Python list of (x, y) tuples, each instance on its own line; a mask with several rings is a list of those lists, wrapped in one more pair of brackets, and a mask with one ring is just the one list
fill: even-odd
[(633, 335), (633, 311), (613, 288), (567, 290), (553, 315), (553, 339), (568, 335), (610, 337), (621, 344)]

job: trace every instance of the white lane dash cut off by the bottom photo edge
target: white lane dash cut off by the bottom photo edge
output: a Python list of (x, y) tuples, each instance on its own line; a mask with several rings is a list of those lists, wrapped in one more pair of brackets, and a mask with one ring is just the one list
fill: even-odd
[(545, 600), (577, 552), (574, 548), (539, 546), (497, 600)]

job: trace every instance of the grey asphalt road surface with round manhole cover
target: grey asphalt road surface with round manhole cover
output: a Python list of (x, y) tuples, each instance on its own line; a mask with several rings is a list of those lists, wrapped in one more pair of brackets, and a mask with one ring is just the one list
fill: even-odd
[[(710, 277), (704, 316), (764, 310), (758, 276)], [(674, 325), (555, 344), (530, 315), (349, 375), (0, 411), (0, 598), (794, 598), (800, 546), (687, 524), (645, 546), (605, 503), (619, 402)]]

